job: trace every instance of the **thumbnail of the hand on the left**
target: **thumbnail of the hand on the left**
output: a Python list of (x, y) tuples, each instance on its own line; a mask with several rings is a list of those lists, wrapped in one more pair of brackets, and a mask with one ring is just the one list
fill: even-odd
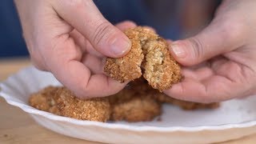
[(111, 50), (117, 56), (122, 56), (130, 50), (131, 42), (128, 38), (115, 38), (111, 43)]

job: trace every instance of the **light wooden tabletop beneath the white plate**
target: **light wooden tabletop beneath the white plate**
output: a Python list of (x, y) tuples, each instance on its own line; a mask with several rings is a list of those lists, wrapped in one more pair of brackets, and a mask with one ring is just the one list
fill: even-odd
[[(18, 70), (31, 65), (28, 58), (0, 59), (0, 82), (16, 73)], [(255, 143), (256, 134), (222, 142)], [(0, 143), (97, 143), (66, 137), (39, 126), (32, 118), (19, 108), (10, 106), (0, 98)]]

